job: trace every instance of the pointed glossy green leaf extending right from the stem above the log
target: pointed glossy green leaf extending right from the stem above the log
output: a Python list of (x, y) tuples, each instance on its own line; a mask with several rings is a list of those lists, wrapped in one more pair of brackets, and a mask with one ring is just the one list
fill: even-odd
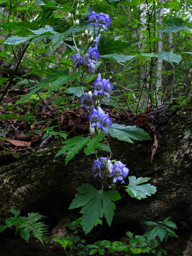
[(108, 127), (109, 134), (117, 138), (118, 140), (123, 140), (127, 142), (132, 142), (134, 140), (150, 140), (149, 135), (142, 129), (136, 126), (125, 126), (125, 124), (112, 124)]

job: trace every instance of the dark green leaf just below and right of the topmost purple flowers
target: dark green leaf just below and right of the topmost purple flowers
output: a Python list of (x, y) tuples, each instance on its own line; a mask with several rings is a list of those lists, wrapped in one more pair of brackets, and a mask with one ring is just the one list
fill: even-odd
[(98, 51), (100, 55), (106, 55), (111, 53), (122, 53), (129, 43), (123, 41), (114, 41), (114, 38), (101, 36)]

